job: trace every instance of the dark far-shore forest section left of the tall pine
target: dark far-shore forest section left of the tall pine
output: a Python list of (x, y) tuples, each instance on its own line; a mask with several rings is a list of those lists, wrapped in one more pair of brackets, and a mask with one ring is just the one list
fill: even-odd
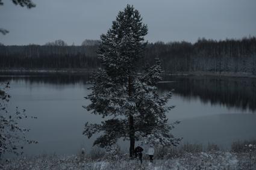
[(1, 69), (97, 68), (98, 46), (0, 46)]

